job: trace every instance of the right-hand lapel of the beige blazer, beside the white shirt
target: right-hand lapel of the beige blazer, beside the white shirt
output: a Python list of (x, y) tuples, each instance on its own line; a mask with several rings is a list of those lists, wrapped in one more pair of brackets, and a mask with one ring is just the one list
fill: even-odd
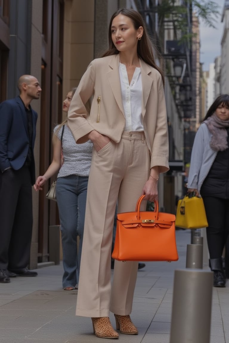
[(147, 63), (140, 59), (141, 82), (142, 82), (142, 116), (146, 113), (146, 103), (150, 94), (153, 79), (149, 76), (151, 70)]

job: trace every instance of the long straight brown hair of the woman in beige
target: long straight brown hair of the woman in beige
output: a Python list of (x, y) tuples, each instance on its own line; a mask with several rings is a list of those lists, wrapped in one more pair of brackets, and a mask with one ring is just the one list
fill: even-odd
[(142, 19), (142, 16), (140, 15), (140, 13), (138, 13), (137, 11), (135, 11), (133, 9), (122, 8), (122, 9), (117, 10), (112, 15), (111, 20), (110, 20), (109, 30), (108, 30), (109, 48), (104, 52), (102, 57), (119, 54), (119, 51), (116, 49), (116, 47), (112, 41), (112, 37), (111, 37), (112, 22), (113, 22), (113, 19), (118, 14), (123, 14), (126, 17), (129, 17), (131, 19), (131, 21), (133, 22), (134, 28), (136, 30), (140, 26), (143, 27), (143, 30), (144, 30), (143, 35), (142, 35), (141, 39), (138, 40), (138, 46), (137, 46), (138, 57), (141, 58), (147, 64), (149, 64), (151, 67), (153, 67), (159, 71), (159, 73), (161, 74), (161, 77), (162, 77), (163, 84), (164, 84), (164, 74), (163, 74), (162, 70), (155, 63), (154, 55), (153, 55), (153, 47), (157, 51), (157, 53), (158, 53), (158, 49), (156, 48), (156, 46), (152, 45), (152, 42), (151, 42), (150, 37), (147, 33), (146, 25), (144, 23), (144, 20)]

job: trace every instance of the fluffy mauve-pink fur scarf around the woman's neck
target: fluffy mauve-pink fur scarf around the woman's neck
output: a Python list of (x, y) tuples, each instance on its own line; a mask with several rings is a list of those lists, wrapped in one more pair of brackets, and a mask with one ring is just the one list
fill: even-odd
[(221, 120), (213, 113), (212, 116), (208, 117), (205, 121), (208, 130), (212, 133), (210, 141), (211, 149), (215, 151), (223, 151), (228, 148), (227, 142), (227, 130), (229, 127), (229, 120)]

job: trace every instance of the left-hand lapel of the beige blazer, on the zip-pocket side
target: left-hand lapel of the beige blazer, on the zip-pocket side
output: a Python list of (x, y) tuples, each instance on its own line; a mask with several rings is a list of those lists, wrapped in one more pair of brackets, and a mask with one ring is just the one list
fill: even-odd
[(115, 100), (118, 104), (118, 107), (125, 117), (122, 94), (121, 94), (120, 79), (119, 79), (118, 62), (119, 62), (119, 55), (117, 54), (117, 55), (112, 56), (109, 62), (110, 70), (107, 73), (107, 78), (110, 83)]

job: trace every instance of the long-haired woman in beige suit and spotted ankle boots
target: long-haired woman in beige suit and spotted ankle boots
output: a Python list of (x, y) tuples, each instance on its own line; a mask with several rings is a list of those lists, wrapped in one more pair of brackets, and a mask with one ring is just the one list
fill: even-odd
[(121, 333), (138, 334), (129, 316), (138, 262), (115, 261), (111, 287), (115, 205), (134, 211), (141, 194), (158, 199), (159, 174), (169, 169), (168, 128), (163, 75), (140, 14), (118, 10), (108, 37), (109, 49), (90, 63), (72, 98), (68, 124), (76, 143), (94, 145), (76, 315), (92, 317), (96, 336), (118, 338), (110, 311)]

